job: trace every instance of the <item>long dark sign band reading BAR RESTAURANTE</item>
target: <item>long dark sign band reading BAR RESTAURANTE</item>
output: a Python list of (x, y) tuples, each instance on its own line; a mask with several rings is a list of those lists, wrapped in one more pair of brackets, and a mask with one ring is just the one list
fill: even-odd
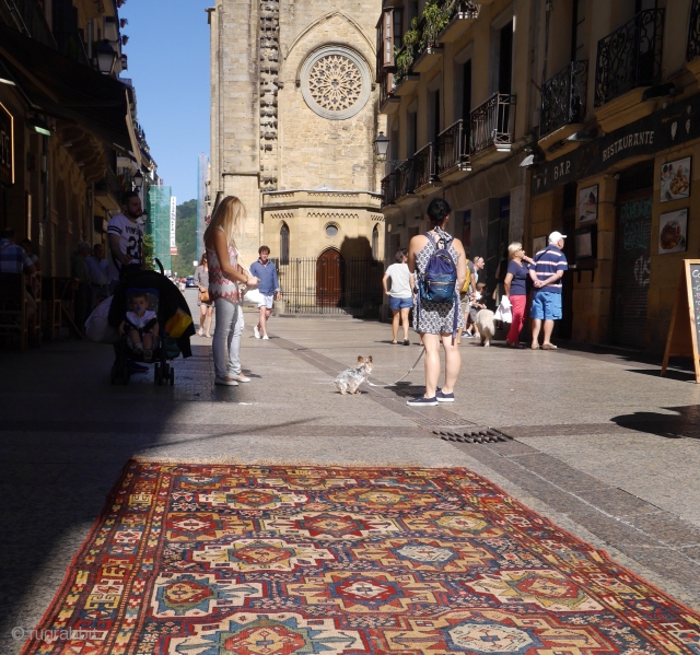
[(532, 195), (539, 196), (560, 184), (597, 175), (628, 157), (654, 156), (693, 139), (700, 139), (700, 95), (679, 101), (538, 166), (533, 171)]

